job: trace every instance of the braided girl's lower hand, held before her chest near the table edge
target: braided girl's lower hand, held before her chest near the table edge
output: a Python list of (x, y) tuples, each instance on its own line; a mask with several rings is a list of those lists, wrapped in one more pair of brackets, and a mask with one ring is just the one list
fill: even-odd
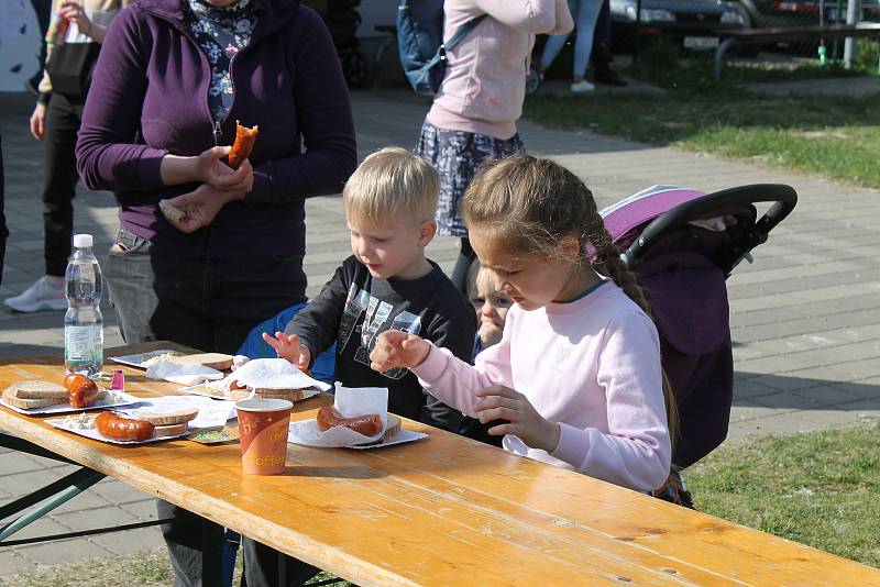
[(493, 436), (513, 434), (531, 448), (540, 448), (552, 453), (559, 444), (559, 424), (544, 419), (526, 396), (503, 385), (481, 389), (474, 409), (480, 422), (485, 424), (493, 420), (506, 422), (488, 429)]

